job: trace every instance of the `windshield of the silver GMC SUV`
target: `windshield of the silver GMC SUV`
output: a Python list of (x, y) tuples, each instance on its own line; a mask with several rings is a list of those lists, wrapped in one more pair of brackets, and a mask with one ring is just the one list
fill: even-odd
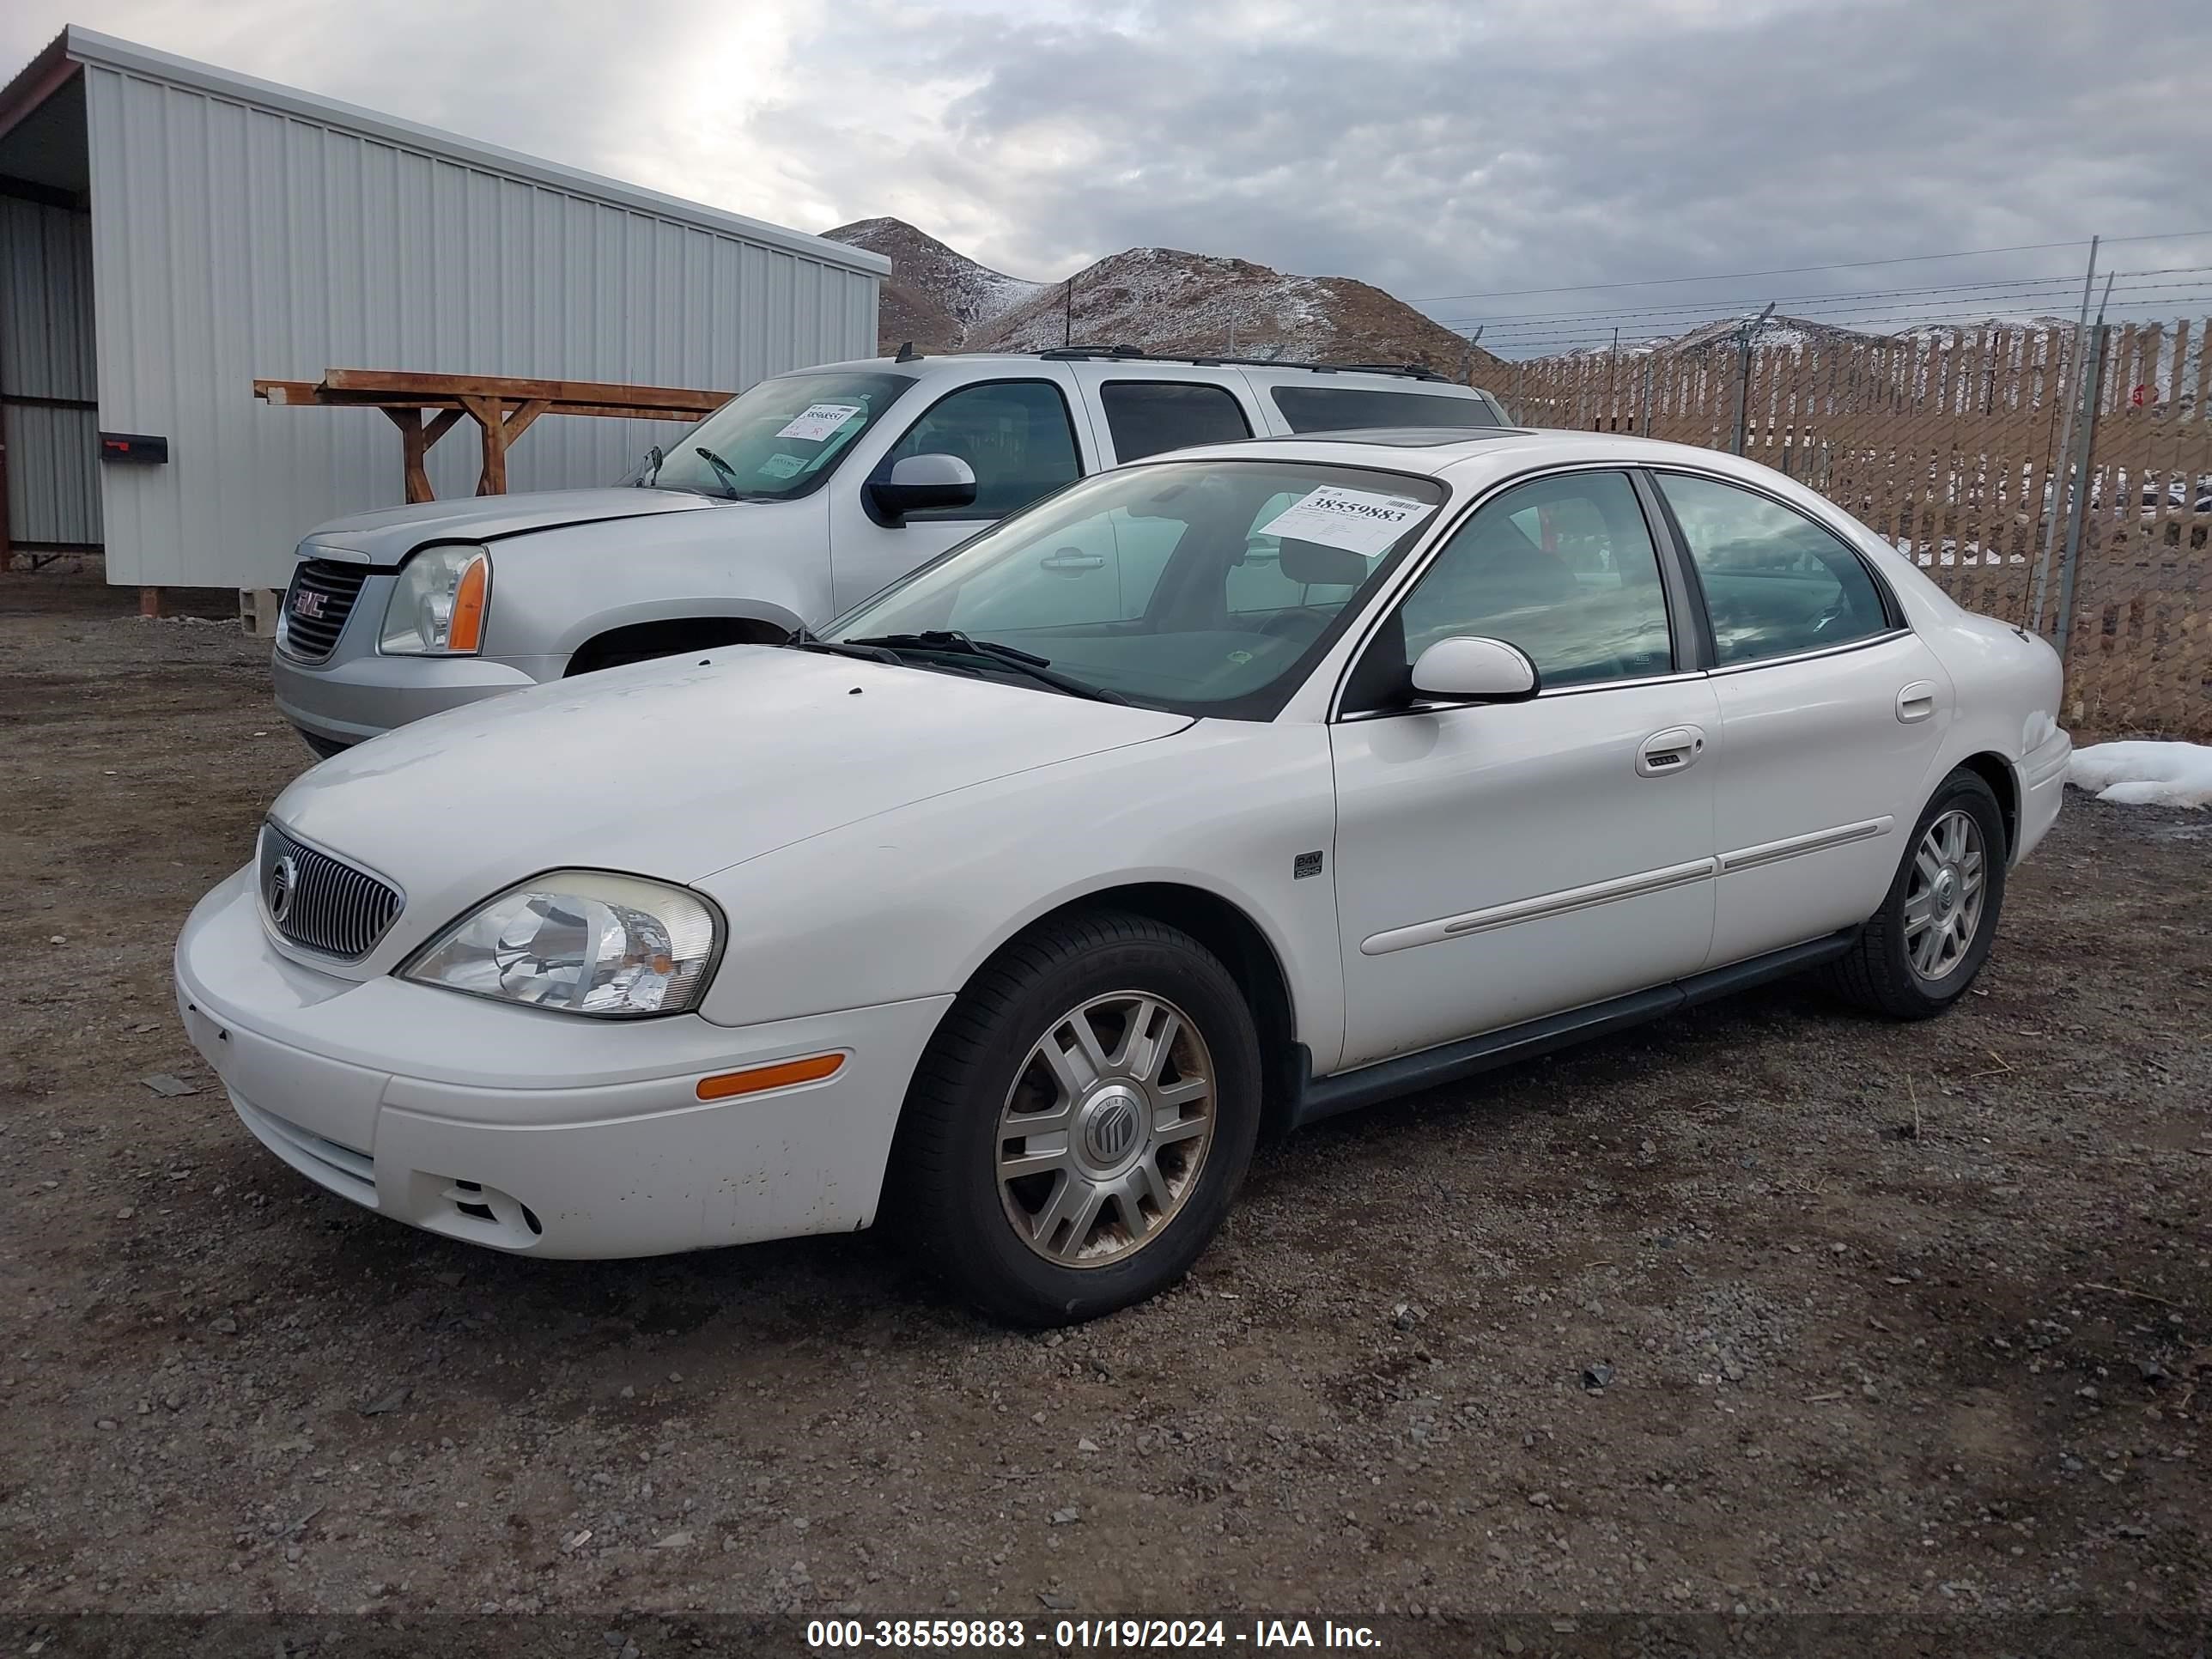
[(914, 380), (902, 374), (779, 374), (721, 405), (635, 482), (739, 502), (816, 489)]

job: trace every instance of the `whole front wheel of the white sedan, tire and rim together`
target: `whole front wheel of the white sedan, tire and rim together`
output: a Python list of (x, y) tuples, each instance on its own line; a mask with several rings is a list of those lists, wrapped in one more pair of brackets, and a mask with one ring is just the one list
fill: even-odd
[(1055, 922), (960, 993), (907, 1095), (887, 1208), (984, 1312), (1062, 1325), (1181, 1279), (1259, 1137), (1230, 973), (1144, 916)]

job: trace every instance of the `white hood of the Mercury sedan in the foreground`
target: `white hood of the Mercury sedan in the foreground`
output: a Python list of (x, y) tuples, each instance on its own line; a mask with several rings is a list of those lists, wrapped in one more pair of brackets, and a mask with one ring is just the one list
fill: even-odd
[(728, 646), (403, 726), (299, 776), (270, 816), (405, 894), (376, 953), (334, 969), (367, 975), (544, 869), (697, 883), (858, 818), (1190, 723), (927, 668)]

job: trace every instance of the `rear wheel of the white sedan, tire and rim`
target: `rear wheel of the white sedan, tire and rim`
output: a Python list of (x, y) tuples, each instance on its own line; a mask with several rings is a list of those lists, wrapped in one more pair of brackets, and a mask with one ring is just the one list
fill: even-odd
[(1960, 768), (1913, 825), (1882, 907), (1836, 962), (1838, 989), (1896, 1020), (1927, 1020), (1958, 1002), (1997, 936), (2004, 860), (1997, 796)]

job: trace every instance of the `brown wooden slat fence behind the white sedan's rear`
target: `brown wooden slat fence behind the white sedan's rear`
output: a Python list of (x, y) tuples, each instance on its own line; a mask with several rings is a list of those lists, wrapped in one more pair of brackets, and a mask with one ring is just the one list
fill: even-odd
[[(1820, 491), (1973, 611), (2066, 639), (2081, 734), (2212, 739), (2212, 376), (2208, 323), (2093, 327), (2097, 367), (2079, 533), (2059, 456), (2073, 327), (1962, 330), (1851, 345), (1537, 358), (1491, 389), (1542, 427), (1734, 449)], [(2073, 540), (2073, 602), (2062, 613)]]

